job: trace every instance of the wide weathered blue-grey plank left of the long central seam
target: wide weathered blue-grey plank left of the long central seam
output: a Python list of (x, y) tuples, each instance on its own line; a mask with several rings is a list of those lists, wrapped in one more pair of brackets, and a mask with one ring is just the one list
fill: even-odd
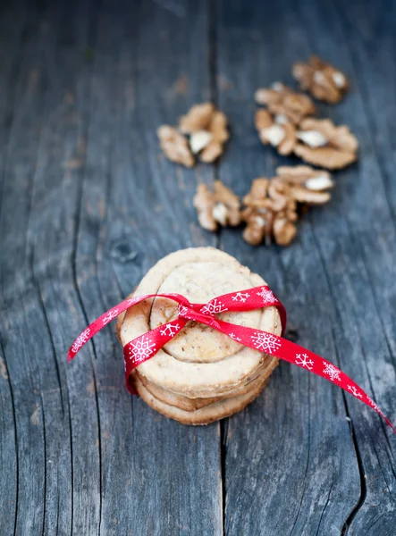
[[(206, 10), (186, 4), (177, 13), (166, 13), (166, 5), (109, 3), (99, 12), (97, 29), (97, 15), (89, 13), (88, 7), (63, 4), (51, 9), (43, 6), (40, 11), (35, 7), (33, 13), (25, 13), (29, 42), (16, 93), (18, 108), (7, 153), (2, 212), (2, 281), (8, 317), (3, 317), (1, 370), (2, 380), (9, 381), (8, 385), (2, 381), (8, 403), (4, 415), (7, 419), (11, 415), (7, 422), (2, 420), (2, 453), (4, 465), (10, 468), (10, 500), (17, 500), (18, 505), (3, 503), (8, 516), (2, 519), (2, 532), (13, 532), (15, 526), (15, 532), (21, 534), (123, 534), (135, 529), (140, 533), (219, 533), (219, 426), (186, 431), (139, 401), (131, 406), (122, 385), (120, 348), (114, 353), (114, 334), (113, 339), (108, 333), (104, 336), (105, 348), (98, 338), (94, 353), (88, 347), (85, 359), (67, 369), (64, 363), (72, 334), (80, 331), (88, 315), (92, 317), (120, 299), (119, 287), (125, 289), (122, 293), (129, 291), (148, 265), (168, 251), (205, 242), (193, 227), (184, 242), (173, 238), (173, 233), (181, 227), (189, 229), (192, 191), (198, 177), (212, 180), (210, 169), (183, 173), (166, 162), (159, 169), (153, 155), (150, 169), (138, 144), (143, 140), (145, 146), (146, 138), (148, 149), (157, 155), (155, 131), (164, 121), (163, 107), (173, 109), (169, 121), (176, 121), (197, 99), (207, 98), (207, 42), (197, 47), (190, 41), (191, 33), (196, 32), (197, 41), (206, 33)], [(137, 11), (141, 11), (139, 19)], [(179, 32), (186, 21), (193, 31)], [(139, 24), (146, 26), (138, 31)], [(93, 50), (97, 31), (98, 46)], [(156, 46), (163, 44), (161, 57)], [(151, 95), (146, 94), (151, 69), (164, 74), (161, 65), (169, 53), (166, 44), (177, 53), (180, 50), (180, 60), (166, 70), (168, 77), (158, 77)], [(195, 58), (198, 63), (192, 61)], [(88, 62), (92, 59), (95, 67), (90, 85), (92, 65)], [(4, 63), (4, 72), (7, 65)], [(134, 79), (137, 74), (142, 80), (139, 84)], [(181, 77), (187, 78), (189, 87), (185, 88)], [(137, 106), (132, 101), (135, 86), (140, 91)], [(132, 125), (136, 134), (130, 131)], [(120, 141), (122, 153), (117, 146)], [(124, 169), (120, 168), (122, 159)], [(133, 204), (136, 187), (139, 189), (136, 171), (146, 181), (141, 188), (145, 203), (140, 201), (140, 207)], [(164, 177), (161, 172), (166, 173)], [(125, 208), (125, 213), (118, 218), (110, 242), (104, 244), (104, 207), (113, 176), (111, 186), (115, 189), (118, 180), (118, 188), (112, 210), (120, 214), (120, 208)], [(129, 187), (125, 176), (131, 180)], [(81, 197), (82, 185), (92, 189), (84, 190)], [(120, 202), (125, 187), (127, 207)], [(188, 202), (184, 190), (190, 194)], [(174, 212), (169, 209), (171, 201)], [(131, 210), (136, 215), (131, 217)], [(161, 210), (167, 213), (170, 229), (152, 218), (151, 214)], [(140, 217), (141, 221), (147, 218), (144, 225)], [(133, 228), (134, 242), (130, 240)], [(150, 257), (148, 233), (156, 245)], [(125, 244), (139, 245), (135, 263), (131, 263), (133, 255), (125, 255)], [(102, 255), (107, 263), (113, 259), (115, 268), (105, 265)], [(15, 264), (19, 266), (16, 282)], [(110, 272), (103, 273), (104, 269)], [(88, 295), (91, 286), (95, 291)], [(81, 310), (82, 302), (87, 316)], [(114, 357), (109, 363), (110, 354)], [(94, 372), (92, 361), (102, 356), (103, 363)], [(15, 434), (10, 434), (11, 386), (18, 457)], [(142, 474), (147, 478), (142, 480)], [(170, 493), (170, 486), (179, 492)], [(127, 498), (120, 505), (125, 492)], [(149, 515), (153, 510), (156, 516)]]

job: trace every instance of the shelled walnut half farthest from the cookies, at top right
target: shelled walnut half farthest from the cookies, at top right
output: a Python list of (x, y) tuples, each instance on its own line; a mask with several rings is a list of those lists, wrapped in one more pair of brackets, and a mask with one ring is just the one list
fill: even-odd
[(292, 72), (301, 89), (308, 89), (315, 98), (329, 104), (339, 103), (350, 87), (343, 72), (316, 55), (308, 63), (294, 63)]

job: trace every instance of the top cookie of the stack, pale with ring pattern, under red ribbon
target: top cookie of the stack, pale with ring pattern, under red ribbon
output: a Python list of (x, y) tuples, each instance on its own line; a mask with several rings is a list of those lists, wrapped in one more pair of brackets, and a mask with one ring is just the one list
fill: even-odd
[[(176, 251), (159, 261), (143, 278), (133, 296), (175, 292), (191, 303), (205, 304), (210, 299), (265, 285), (265, 281), (242, 266), (231, 255), (213, 247)], [(125, 314), (120, 329), (122, 345), (131, 339), (170, 322), (178, 306), (162, 297), (149, 299)], [(226, 322), (281, 334), (282, 326), (275, 307), (244, 313), (223, 312)], [(156, 356), (139, 364), (148, 381), (190, 398), (206, 398), (238, 389), (257, 373), (257, 369), (276, 360), (245, 348), (223, 333), (198, 322), (189, 322)]]

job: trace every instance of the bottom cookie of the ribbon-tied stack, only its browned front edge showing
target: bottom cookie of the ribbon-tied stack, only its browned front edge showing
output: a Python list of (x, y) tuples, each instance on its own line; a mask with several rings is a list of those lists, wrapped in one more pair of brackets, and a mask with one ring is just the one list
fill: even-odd
[(268, 382), (268, 378), (260, 381), (255, 389), (244, 395), (234, 398), (224, 398), (209, 406), (201, 407), (196, 411), (183, 411), (179, 407), (164, 404), (164, 402), (158, 400), (144, 387), (141, 381), (139, 381), (139, 377), (135, 377), (134, 381), (139, 396), (143, 398), (148, 406), (155, 409), (158, 413), (179, 421), (182, 424), (209, 424), (233, 415), (248, 406), (260, 394)]

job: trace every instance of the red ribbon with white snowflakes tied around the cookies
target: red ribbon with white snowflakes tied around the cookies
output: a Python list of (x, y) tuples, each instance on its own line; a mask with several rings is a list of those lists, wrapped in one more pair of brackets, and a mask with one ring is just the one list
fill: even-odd
[(358, 398), (361, 402), (367, 404), (367, 406), (375, 409), (375, 411), (383, 417), (386, 423), (389, 424), (392, 431), (396, 433), (396, 429), (389, 419), (383, 415), (383, 412), (375, 404), (374, 400), (372, 400), (372, 398), (370, 398), (367, 393), (355, 383), (355, 381), (351, 380), (347, 374), (343, 373), (337, 366), (330, 363), (330, 361), (327, 361), (321, 356), (317, 356), (307, 348), (302, 348), (298, 344), (283, 339), (282, 337), (278, 337), (273, 333), (232, 324), (230, 322), (224, 322), (215, 316), (224, 311), (251, 311), (262, 307), (274, 306), (277, 307), (279, 314), (281, 315), (283, 334), (286, 327), (286, 310), (279, 299), (275, 297), (273, 291), (266, 286), (224, 294), (223, 296), (211, 299), (207, 304), (190, 304), (189, 300), (181, 296), (181, 294), (146, 294), (144, 296), (126, 299), (118, 306), (114, 306), (105, 314), (99, 316), (99, 318), (92, 322), (86, 330), (80, 333), (79, 337), (73, 342), (72, 347), (69, 349), (68, 360), (71, 361), (80, 351), (80, 348), (82, 348), (88, 340), (97, 333), (97, 331), (102, 330), (106, 324), (114, 320), (119, 314), (122, 314), (131, 306), (139, 304), (152, 297), (166, 297), (177, 302), (179, 304), (178, 317), (172, 322), (164, 323), (155, 330), (147, 331), (147, 333), (131, 340), (131, 342), (128, 342), (123, 347), (125, 382), (132, 394), (136, 394), (129, 381), (133, 369), (139, 366), (139, 364), (147, 361), (147, 359), (151, 359), (151, 357), (155, 356), (158, 350), (163, 348), (169, 340), (173, 339), (173, 337), (184, 328), (187, 322), (193, 320), (211, 326), (217, 331), (221, 331), (243, 346), (259, 350), (270, 356), (284, 359), (285, 361), (289, 361), (289, 363), (297, 364), (297, 366), (307, 369), (310, 373), (315, 373), (318, 376), (322, 376), (325, 380), (331, 381), (335, 385), (338, 385), (338, 387), (341, 387), (341, 389), (349, 392), (355, 398)]

